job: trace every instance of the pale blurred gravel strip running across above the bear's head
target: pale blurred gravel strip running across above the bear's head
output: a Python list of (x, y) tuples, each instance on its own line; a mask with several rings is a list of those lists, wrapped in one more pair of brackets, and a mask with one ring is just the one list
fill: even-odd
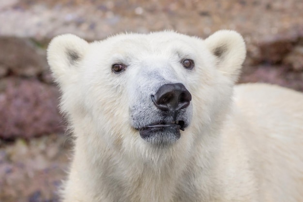
[(175, 29), (205, 37), (235, 29), (249, 43), (303, 25), (302, 0), (2, 1), (0, 35), (38, 40), (66, 32), (95, 40), (125, 30)]

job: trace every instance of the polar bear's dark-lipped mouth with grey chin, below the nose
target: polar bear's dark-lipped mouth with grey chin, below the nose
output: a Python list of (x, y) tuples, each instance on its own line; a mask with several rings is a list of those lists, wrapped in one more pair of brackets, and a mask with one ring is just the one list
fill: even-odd
[(177, 141), (181, 137), (180, 130), (185, 129), (183, 120), (170, 123), (161, 122), (145, 126), (139, 130), (143, 140), (153, 144), (168, 144)]

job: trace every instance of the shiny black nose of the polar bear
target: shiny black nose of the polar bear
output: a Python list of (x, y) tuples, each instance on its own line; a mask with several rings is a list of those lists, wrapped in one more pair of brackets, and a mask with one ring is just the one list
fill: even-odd
[(159, 88), (152, 101), (158, 109), (163, 111), (180, 110), (186, 108), (192, 95), (183, 84), (165, 84)]

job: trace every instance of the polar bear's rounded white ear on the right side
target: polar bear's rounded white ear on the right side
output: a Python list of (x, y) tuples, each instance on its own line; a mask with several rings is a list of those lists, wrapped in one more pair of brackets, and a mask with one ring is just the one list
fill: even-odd
[(220, 30), (205, 39), (205, 43), (216, 57), (218, 70), (236, 82), (246, 56), (242, 36), (236, 31)]

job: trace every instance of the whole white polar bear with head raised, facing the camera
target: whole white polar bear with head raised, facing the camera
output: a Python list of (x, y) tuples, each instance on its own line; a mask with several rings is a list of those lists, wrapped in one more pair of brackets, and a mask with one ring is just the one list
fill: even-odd
[(75, 137), (63, 201), (302, 202), (303, 95), (235, 86), (245, 52), (230, 30), (54, 38)]

